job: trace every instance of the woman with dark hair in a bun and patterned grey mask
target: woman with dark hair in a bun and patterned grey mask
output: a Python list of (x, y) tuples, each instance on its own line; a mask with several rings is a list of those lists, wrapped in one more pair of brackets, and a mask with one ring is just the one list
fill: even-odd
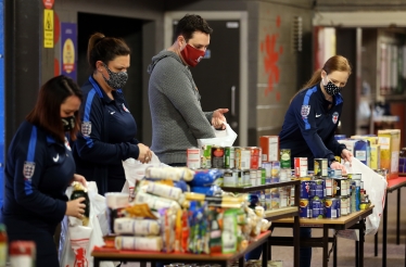
[(81, 87), (85, 101), (81, 130), (74, 145), (76, 170), (96, 181), (99, 193), (120, 192), (125, 183), (123, 161), (151, 161), (151, 150), (135, 137), (137, 124), (122, 88), (130, 50), (124, 40), (97, 33), (89, 39), (88, 62), (92, 74)]

